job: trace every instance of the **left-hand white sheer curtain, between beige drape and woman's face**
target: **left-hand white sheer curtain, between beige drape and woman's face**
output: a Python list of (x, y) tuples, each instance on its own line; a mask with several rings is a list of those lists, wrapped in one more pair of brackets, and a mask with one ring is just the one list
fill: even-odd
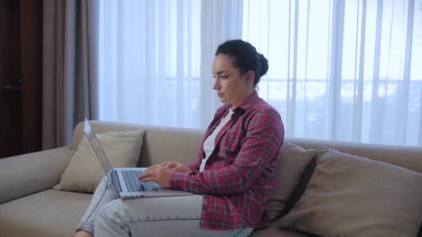
[(100, 119), (206, 127), (221, 105), (212, 93), (214, 51), (242, 37), (242, 2), (101, 4)]

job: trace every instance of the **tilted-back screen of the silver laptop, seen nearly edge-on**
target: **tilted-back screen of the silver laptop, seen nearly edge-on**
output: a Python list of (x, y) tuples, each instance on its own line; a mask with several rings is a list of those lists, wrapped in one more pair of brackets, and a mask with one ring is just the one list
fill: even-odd
[(110, 164), (110, 161), (108, 161), (108, 158), (105, 155), (105, 152), (101, 147), (99, 140), (96, 138), (95, 132), (94, 130), (92, 130), (90, 122), (86, 118), (85, 123), (83, 125), (83, 131), (85, 132), (85, 135), (87, 136), (87, 139), (90, 142), (92, 150), (94, 150), (95, 156), (99, 160), (101, 167), (103, 168), (103, 170), (111, 181), (112, 179), (110, 177), (110, 171), (112, 170), (112, 166)]

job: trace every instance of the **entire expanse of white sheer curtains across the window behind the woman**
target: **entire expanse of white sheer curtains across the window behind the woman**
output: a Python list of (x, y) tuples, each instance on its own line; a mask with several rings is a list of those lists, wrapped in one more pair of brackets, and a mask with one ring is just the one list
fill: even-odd
[(419, 0), (101, 4), (101, 120), (206, 128), (214, 51), (242, 38), (288, 137), (422, 146)]

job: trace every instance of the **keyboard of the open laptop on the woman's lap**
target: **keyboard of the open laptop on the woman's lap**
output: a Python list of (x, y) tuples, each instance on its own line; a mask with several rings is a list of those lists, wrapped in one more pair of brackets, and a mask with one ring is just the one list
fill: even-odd
[(158, 191), (158, 184), (154, 182), (142, 182), (139, 177), (142, 175), (141, 170), (122, 170), (124, 183), (130, 192), (139, 191)]

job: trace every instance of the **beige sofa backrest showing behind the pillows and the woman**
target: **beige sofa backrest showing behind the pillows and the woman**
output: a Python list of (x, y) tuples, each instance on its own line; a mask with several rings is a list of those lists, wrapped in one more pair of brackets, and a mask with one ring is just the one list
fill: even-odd
[[(144, 128), (144, 145), (138, 166), (150, 166), (167, 160), (188, 163), (199, 154), (199, 146), (203, 139), (203, 130), (186, 128), (167, 128), (128, 123), (92, 121), (92, 128), (96, 133), (117, 132)], [(83, 123), (79, 123), (74, 131), (71, 148), (76, 150), (83, 138)], [(341, 152), (385, 161), (389, 164), (402, 166), (422, 173), (422, 148), (410, 146), (385, 146), (366, 143), (351, 143), (316, 139), (293, 139), (286, 141), (295, 143), (303, 148), (319, 148), (326, 146)]]

